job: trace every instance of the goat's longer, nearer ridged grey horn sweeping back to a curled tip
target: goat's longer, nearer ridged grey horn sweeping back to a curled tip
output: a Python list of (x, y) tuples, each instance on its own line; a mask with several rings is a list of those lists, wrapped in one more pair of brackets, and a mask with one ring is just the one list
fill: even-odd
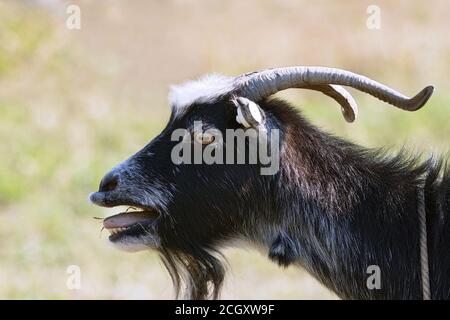
[(320, 85), (344, 85), (366, 92), (397, 108), (415, 111), (420, 109), (433, 93), (428, 86), (413, 98), (365, 76), (327, 67), (287, 67), (247, 73), (236, 78), (240, 95), (254, 101), (289, 88), (307, 88)]

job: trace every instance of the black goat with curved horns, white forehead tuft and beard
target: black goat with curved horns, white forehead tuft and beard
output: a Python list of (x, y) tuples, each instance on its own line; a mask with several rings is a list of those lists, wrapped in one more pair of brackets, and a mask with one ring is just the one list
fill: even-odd
[[(431, 294), (450, 299), (445, 159), (420, 160), (404, 151), (387, 156), (357, 146), (319, 130), (288, 103), (270, 99), (288, 88), (320, 91), (336, 100), (351, 122), (358, 108), (341, 86), (406, 111), (421, 108), (433, 92), (426, 87), (409, 99), (367, 77), (325, 67), (213, 75), (172, 87), (165, 129), (106, 174), (90, 195), (100, 206), (140, 209), (104, 220), (109, 241), (128, 251), (159, 252), (177, 297), (218, 298), (225, 275), (220, 251), (239, 241), (262, 248), (280, 266), (303, 267), (344, 299), (420, 299), (417, 194), (423, 188)], [(259, 158), (244, 164), (175, 164), (173, 132), (192, 132), (199, 120), (219, 133), (278, 130), (279, 141), (268, 138), (268, 143), (279, 144), (279, 170), (261, 174)], [(187, 145), (203, 150), (214, 140), (194, 134)], [(372, 265), (381, 272), (375, 289), (367, 286)]]

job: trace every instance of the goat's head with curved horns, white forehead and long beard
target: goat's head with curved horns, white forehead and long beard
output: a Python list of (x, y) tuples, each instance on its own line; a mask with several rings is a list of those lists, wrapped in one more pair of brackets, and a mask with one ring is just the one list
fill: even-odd
[[(90, 196), (100, 206), (140, 209), (104, 220), (104, 227), (111, 231), (109, 241), (125, 250), (159, 251), (177, 291), (184, 281), (190, 298), (204, 298), (211, 283), (215, 297), (224, 275), (217, 250), (232, 240), (249, 238), (249, 228), (256, 228), (255, 217), (276, 206), (271, 197), (277, 174), (261, 174), (267, 163), (260, 154), (244, 164), (226, 159), (236, 160), (242, 151), (249, 155), (252, 135), (247, 136), (243, 150), (239, 146), (230, 150), (226, 131), (240, 129), (245, 134), (253, 130), (258, 138), (254, 141), (265, 139), (267, 146), (274, 147), (270, 148), (272, 153), (281, 145), (282, 153), (285, 124), (271, 110), (265, 110), (264, 100), (288, 88), (312, 89), (335, 99), (344, 118), (354, 121), (356, 103), (340, 85), (409, 111), (423, 106), (433, 90), (427, 87), (409, 99), (366, 77), (323, 67), (270, 69), (236, 78), (211, 76), (173, 87), (172, 115), (166, 128), (110, 171), (99, 191)], [(278, 136), (270, 134), (276, 130)], [(274, 137), (280, 139), (275, 141)], [(187, 146), (182, 151), (187, 161), (182, 163), (174, 160), (174, 155), (180, 155), (180, 146)], [(208, 164), (189, 159), (195, 157), (196, 150), (205, 154), (207, 149), (223, 161)], [(275, 251), (283, 252), (282, 246), (289, 242), (283, 239), (285, 235), (279, 235), (268, 241), (276, 243)], [(276, 257), (277, 252), (271, 252), (272, 258), (289, 262), (287, 257)]]

